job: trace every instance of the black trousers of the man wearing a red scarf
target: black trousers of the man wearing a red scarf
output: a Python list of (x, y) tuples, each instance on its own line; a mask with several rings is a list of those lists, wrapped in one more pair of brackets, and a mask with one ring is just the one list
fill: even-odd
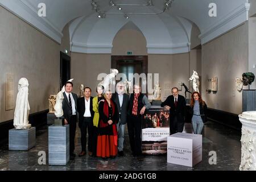
[(127, 120), (127, 128), (130, 139), (131, 151), (134, 155), (142, 155), (141, 150), (141, 115), (131, 115)]

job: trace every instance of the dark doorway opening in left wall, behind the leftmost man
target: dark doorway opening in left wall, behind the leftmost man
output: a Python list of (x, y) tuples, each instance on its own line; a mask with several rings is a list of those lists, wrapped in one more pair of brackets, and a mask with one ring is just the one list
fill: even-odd
[(60, 52), (60, 89), (70, 79), (71, 57)]

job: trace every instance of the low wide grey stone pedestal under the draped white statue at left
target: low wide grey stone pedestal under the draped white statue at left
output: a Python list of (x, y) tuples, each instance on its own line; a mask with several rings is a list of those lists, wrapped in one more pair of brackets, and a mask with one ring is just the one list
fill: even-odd
[(36, 144), (36, 128), (9, 130), (9, 150), (30, 150)]

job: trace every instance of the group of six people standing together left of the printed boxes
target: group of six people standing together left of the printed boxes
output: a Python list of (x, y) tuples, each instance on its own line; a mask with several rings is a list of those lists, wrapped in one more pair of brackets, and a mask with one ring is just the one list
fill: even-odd
[(64, 124), (69, 125), (69, 154), (74, 159), (76, 120), (81, 130), (81, 152), (86, 155), (86, 135), (88, 132), (88, 155), (102, 159), (124, 156), (123, 142), (127, 123), (133, 156), (143, 160), (141, 150), (141, 122), (146, 109), (151, 107), (141, 87), (134, 85), (134, 93), (126, 94), (125, 85), (117, 84), (117, 92), (111, 93), (98, 85), (96, 97), (91, 97), (92, 89), (84, 88), (84, 97), (72, 93), (73, 83), (65, 84), (63, 111)]

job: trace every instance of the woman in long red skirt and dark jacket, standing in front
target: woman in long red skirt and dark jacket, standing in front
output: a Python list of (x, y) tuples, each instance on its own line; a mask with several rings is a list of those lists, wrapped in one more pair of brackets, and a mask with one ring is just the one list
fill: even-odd
[(117, 123), (119, 113), (112, 100), (110, 90), (105, 92), (105, 100), (98, 105), (100, 122), (98, 123), (97, 156), (103, 159), (115, 158), (117, 155)]

